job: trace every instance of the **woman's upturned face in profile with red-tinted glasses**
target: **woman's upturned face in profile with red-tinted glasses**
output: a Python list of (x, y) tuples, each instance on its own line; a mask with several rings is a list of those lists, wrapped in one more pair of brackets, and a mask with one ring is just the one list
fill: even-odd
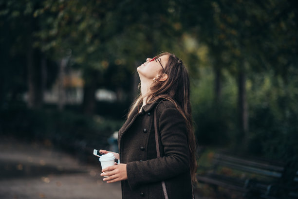
[(153, 81), (154, 78), (158, 78), (162, 75), (163, 67), (165, 68), (168, 63), (168, 55), (162, 55), (158, 58), (147, 58), (146, 62), (137, 68), (137, 72), (141, 80), (143, 78)]

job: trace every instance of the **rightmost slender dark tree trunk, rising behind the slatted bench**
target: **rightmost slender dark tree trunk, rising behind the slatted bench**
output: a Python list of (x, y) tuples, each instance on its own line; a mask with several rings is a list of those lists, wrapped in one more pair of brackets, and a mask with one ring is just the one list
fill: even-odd
[(246, 100), (246, 75), (245, 75), (245, 62), (242, 63), (242, 67), (238, 76), (238, 109), (239, 109), (239, 146), (245, 147), (248, 142), (248, 105)]

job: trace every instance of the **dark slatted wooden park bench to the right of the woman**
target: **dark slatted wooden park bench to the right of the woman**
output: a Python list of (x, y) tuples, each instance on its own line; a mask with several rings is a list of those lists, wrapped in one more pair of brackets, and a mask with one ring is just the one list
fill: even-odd
[(285, 171), (284, 163), (219, 153), (213, 156), (212, 163), (205, 174), (197, 175), (197, 180), (211, 185), (217, 198), (219, 187), (239, 192), (242, 198), (275, 196)]

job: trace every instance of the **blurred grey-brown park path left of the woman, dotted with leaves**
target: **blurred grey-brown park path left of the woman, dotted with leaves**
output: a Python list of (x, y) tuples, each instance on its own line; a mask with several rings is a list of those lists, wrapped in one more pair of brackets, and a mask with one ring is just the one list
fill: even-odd
[(99, 164), (46, 145), (0, 137), (0, 199), (121, 199), (120, 183), (103, 182)]

